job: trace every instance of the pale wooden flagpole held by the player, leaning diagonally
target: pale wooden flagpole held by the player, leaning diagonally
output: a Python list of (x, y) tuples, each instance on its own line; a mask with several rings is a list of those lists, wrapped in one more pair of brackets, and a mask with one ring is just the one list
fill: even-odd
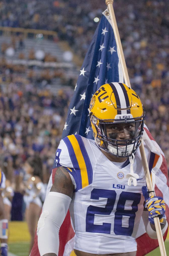
[[(113, 9), (113, 0), (106, 0), (106, 5), (108, 6), (109, 15), (110, 15), (110, 18), (112, 21), (112, 27), (113, 27), (113, 31), (114, 31), (114, 35), (115, 35), (115, 39), (116, 39), (117, 50), (118, 50), (120, 62), (122, 65), (124, 81), (125, 81), (125, 84), (131, 88), (129, 75), (128, 75), (128, 71), (127, 71), (127, 67), (126, 67), (126, 63), (125, 63), (125, 59), (124, 59), (123, 49), (122, 49), (122, 45), (121, 45), (119, 30), (117, 27), (115, 13), (114, 13), (114, 9)], [(143, 163), (144, 173), (145, 173), (145, 177), (146, 177), (147, 188), (149, 191), (153, 191), (153, 186), (152, 186), (152, 182), (151, 182), (151, 177), (150, 177), (146, 153), (145, 153), (145, 149), (144, 149), (144, 145), (143, 145), (143, 140), (142, 140), (142, 143), (141, 143), (139, 149), (140, 149), (140, 154), (142, 157), (142, 163)], [(154, 195), (154, 193), (151, 192), (150, 196), (153, 196), (153, 195)], [(155, 223), (155, 227), (156, 227), (161, 256), (167, 256), (166, 251), (165, 251), (165, 246), (164, 246), (164, 240), (163, 240), (163, 236), (162, 236), (162, 232), (161, 232), (160, 220), (158, 217), (154, 217), (154, 223)]]

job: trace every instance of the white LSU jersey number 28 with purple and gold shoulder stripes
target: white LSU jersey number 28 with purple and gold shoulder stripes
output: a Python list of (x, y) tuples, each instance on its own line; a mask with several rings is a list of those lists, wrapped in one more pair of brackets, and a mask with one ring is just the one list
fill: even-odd
[[(153, 158), (146, 148), (149, 167)], [(142, 186), (146, 185), (139, 150), (135, 153), (137, 186), (128, 186), (130, 162), (112, 163), (94, 140), (69, 135), (61, 140), (56, 166), (67, 169), (75, 185), (69, 207), (75, 230), (74, 249), (93, 254), (137, 250), (135, 241), (143, 212)]]

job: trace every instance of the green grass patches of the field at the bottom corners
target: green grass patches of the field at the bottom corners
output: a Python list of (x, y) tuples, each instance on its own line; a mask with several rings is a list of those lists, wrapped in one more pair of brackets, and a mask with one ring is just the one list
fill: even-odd
[[(166, 254), (169, 255), (169, 241), (165, 243)], [(29, 242), (9, 243), (9, 251), (17, 256), (28, 256)], [(147, 254), (147, 256), (160, 256), (160, 249)]]

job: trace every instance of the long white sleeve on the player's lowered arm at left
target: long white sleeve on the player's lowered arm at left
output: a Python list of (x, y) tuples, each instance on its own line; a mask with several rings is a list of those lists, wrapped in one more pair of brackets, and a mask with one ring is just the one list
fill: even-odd
[(40, 215), (37, 235), (40, 256), (59, 251), (59, 229), (66, 217), (71, 198), (58, 192), (49, 192)]

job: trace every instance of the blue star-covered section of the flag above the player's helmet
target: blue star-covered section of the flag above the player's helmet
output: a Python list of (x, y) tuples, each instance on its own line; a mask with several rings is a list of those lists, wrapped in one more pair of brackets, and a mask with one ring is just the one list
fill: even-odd
[(69, 105), (62, 138), (71, 134), (93, 138), (90, 127), (90, 100), (103, 84), (120, 81), (119, 57), (112, 26), (102, 15), (80, 69), (75, 93)]

